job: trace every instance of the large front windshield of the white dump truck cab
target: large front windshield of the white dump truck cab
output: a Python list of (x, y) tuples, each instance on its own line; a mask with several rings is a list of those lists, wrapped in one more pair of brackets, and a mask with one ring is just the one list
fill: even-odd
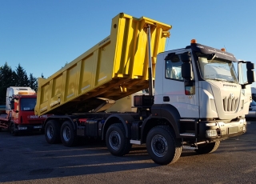
[(205, 55), (198, 56), (198, 62), (203, 79), (238, 83), (232, 61)]

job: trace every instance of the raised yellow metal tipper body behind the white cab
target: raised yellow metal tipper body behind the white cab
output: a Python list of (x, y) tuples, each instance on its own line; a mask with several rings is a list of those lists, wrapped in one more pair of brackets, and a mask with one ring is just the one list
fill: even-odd
[(148, 88), (147, 25), (154, 78), (171, 26), (121, 13), (112, 19), (110, 36), (49, 78), (38, 78), (35, 114), (87, 112), (101, 103), (98, 98), (118, 100)]

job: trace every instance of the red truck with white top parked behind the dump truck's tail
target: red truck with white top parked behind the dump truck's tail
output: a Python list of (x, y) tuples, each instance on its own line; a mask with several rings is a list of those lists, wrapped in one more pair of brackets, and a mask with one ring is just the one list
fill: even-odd
[(34, 114), (37, 95), (30, 87), (10, 86), (6, 90), (6, 113), (0, 114), (0, 131), (10, 130), (12, 135), (22, 131), (42, 130), (47, 115)]

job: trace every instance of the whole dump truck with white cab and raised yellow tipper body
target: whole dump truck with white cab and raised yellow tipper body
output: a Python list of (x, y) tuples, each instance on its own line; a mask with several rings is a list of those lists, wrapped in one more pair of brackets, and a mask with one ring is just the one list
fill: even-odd
[[(50, 78), (39, 78), (35, 114), (54, 114), (43, 124), (46, 141), (74, 146), (79, 136), (102, 138), (116, 156), (146, 143), (154, 162), (168, 164), (178, 160), (182, 147), (207, 154), (220, 141), (244, 134), (254, 64), (195, 40), (165, 51), (170, 29), (118, 14), (110, 36)], [(209, 77), (206, 69), (213, 67)], [(135, 94), (141, 90), (149, 94)], [(135, 112), (113, 109), (120, 99), (131, 104), (129, 95)]]

